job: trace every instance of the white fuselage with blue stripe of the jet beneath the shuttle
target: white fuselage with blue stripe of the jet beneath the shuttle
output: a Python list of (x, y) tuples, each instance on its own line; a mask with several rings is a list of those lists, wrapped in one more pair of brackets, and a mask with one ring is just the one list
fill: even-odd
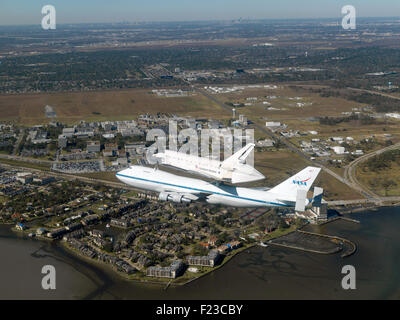
[(116, 174), (123, 183), (134, 188), (158, 193), (187, 193), (210, 204), (234, 207), (293, 207), (294, 202), (278, 200), (268, 191), (215, 184), (200, 179), (142, 166), (131, 166)]

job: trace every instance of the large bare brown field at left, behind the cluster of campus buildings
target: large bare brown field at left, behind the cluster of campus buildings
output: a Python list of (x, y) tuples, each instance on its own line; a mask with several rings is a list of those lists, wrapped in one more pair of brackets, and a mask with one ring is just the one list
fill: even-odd
[[(44, 106), (51, 105), (57, 121), (127, 120), (143, 113), (177, 113), (194, 117), (225, 114), (222, 108), (197, 94), (166, 98), (149, 93), (150, 89), (118, 91), (0, 95), (0, 119), (33, 125), (47, 123)], [(99, 113), (99, 114), (96, 114)]]

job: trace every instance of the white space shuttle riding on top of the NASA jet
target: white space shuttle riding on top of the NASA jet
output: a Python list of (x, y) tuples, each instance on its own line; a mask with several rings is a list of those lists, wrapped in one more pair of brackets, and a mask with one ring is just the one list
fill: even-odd
[(172, 150), (157, 153), (154, 157), (161, 165), (201, 175), (215, 181), (238, 184), (265, 179), (262, 173), (246, 164), (246, 158), (254, 150), (254, 146), (254, 143), (249, 143), (224, 161)]

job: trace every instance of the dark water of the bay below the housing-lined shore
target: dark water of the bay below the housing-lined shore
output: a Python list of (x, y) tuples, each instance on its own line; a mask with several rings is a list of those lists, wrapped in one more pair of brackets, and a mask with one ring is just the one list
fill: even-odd
[[(187, 286), (171, 286), (167, 290), (165, 290), (167, 283), (160, 286), (152, 283), (125, 281), (104, 265), (93, 264), (91, 261), (81, 259), (69, 250), (60, 248), (58, 243), (39, 242), (33, 239), (32, 241), (23, 241), (22, 236), (12, 232), (9, 227), (2, 226), (0, 229), (2, 235), (4, 235), (4, 240), (7, 241), (2, 247), (6, 250), (5, 257), (8, 257), (11, 261), (14, 258), (24, 259), (25, 264), (32, 261), (39, 268), (43, 263), (53, 264), (51, 263), (54, 261), (53, 258), (59, 261), (59, 265), (55, 266), (62, 270), (60, 276), (64, 276), (63, 281), (67, 281), (68, 285), (71, 286), (66, 292), (58, 291), (59, 294), (62, 294), (60, 298), (63, 299), (182, 300), (208, 297), (208, 299), (213, 300), (224, 298), (270, 300), (277, 298), (301, 299), (305, 296), (310, 299), (321, 297), (324, 299), (346, 299), (349, 298), (348, 292), (332, 291), (332, 287), (335, 285), (340, 289), (340, 282), (332, 275), (339, 274), (340, 268), (338, 267), (347, 264), (347, 262), (351, 262), (350, 264), (356, 266), (359, 273), (362, 272), (367, 278), (377, 283), (377, 287), (371, 288), (368, 280), (363, 281), (361, 279), (357, 284), (359, 289), (362, 290), (357, 290), (356, 298), (393, 298), (400, 281), (396, 274), (400, 242), (387, 243), (387, 238), (392, 236), (393, 239), (399, 238), (397, 229), (400, 216), (396, 214), (398, 209), (400, 208), (379, 210), (377, 212), (379, 214), (371, 211), (365, 212), (365, 215), (364, 212), (357, 213), (353, 218), (361, 220), (362, 228), (359, 225), (347, 224), (345, 221), (339, 220), (337, 223), (322, 227), (322, 229), (312, 225), (308, 225), (304, 229), (317, 233), (338, 235), (356, 242), (360, 250), (350, 257), (350, 261), (342, 260), (340, 254), (327, 256), (272, 246), (267, 250), (264, 250), (261, 246), (253, 246), (253, 249), (244, 250), (244, 254), (235, 255), (235, 258), (231, 258), (226, 263), (224, 269), (220, 269), (209, 277), (201, 277), (199, 281), (188, 283)], [(370, 234), (374, 234), (374, 237), (371, 238)], [(26, 237), (24, 238), (29, 240)], [(382, 246), (386, 245), (390, 245), (389, 251), (380, 250)], [(37, 252), (37, 255), (30, 257), (33, 252)], [(374, 254), (377, 254), (375, 257), (377, 264), (375, 262), (365, 263)], [(396, 260), (385, 259), (385, 257), (393, 257)], [(51, 260), (38, 260), (38, 258)], [(31, 276), (24, 273), (25, 266), (18, 265), (17, 267), (18, 269), (14, 269), (12, 264), (5, 264), (3, 268), (4, 271), (7, 271), (5, 280), (9, 281), (8, 285), (12, 288), (14, 288), (13, 279), (10, 279), (8, 275), (12, 275), (13, 272), (18, 272), (20, 275), (18, 281), (21, 284), (25, 283), (26, 280), (32, 280)], [(383, 272), (375, 273), (376, 267), (379, 267)], [(310, 277), (310, 271), (315, 276)], [(40, 286), (37, 286), (38, 280), (40, 280), (39, 269), (34, 273), (38, 278), (33, 279), (33, 286), (27, 288), (30, 291), (24, 293), (33, 298), (39, 297), (38, 294), (42, 293)], [(84, 280), (82, 275), (88, 281)], [(327, 281), (321, 283), (320, 278), (325, 278), (325, 276)], [(395, 283), (392, 283), (392, 277)], [(73, 285), (72, 280), (74, 281)], [(364, 288), (371, 290), (364, 290)], [(290, 296), (288, 296), (288, 293)], [(19, 293), (17, 289), (15, 292), (3, 292), (4, 297), (10, 297), (10, 294), (18, 296)]]

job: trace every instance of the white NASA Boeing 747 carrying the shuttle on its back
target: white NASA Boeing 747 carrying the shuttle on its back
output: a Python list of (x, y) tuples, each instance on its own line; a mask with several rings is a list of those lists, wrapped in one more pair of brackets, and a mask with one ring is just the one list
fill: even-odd
[[(307, 192), (320, 170), (307, 167), (272, 189), (235, 187), (143, 166), (131, 166), (116, 176), (132, 187), (158, 192), (163, 201), (206, 201), (234, 207), (296, 207), (297, 211), (304, 211), (313, 199), (322, 197), (322, 189), (315, 188), (314, 197), (307, 199)], [(320, 190), (319, 194), (316, 189)]]

